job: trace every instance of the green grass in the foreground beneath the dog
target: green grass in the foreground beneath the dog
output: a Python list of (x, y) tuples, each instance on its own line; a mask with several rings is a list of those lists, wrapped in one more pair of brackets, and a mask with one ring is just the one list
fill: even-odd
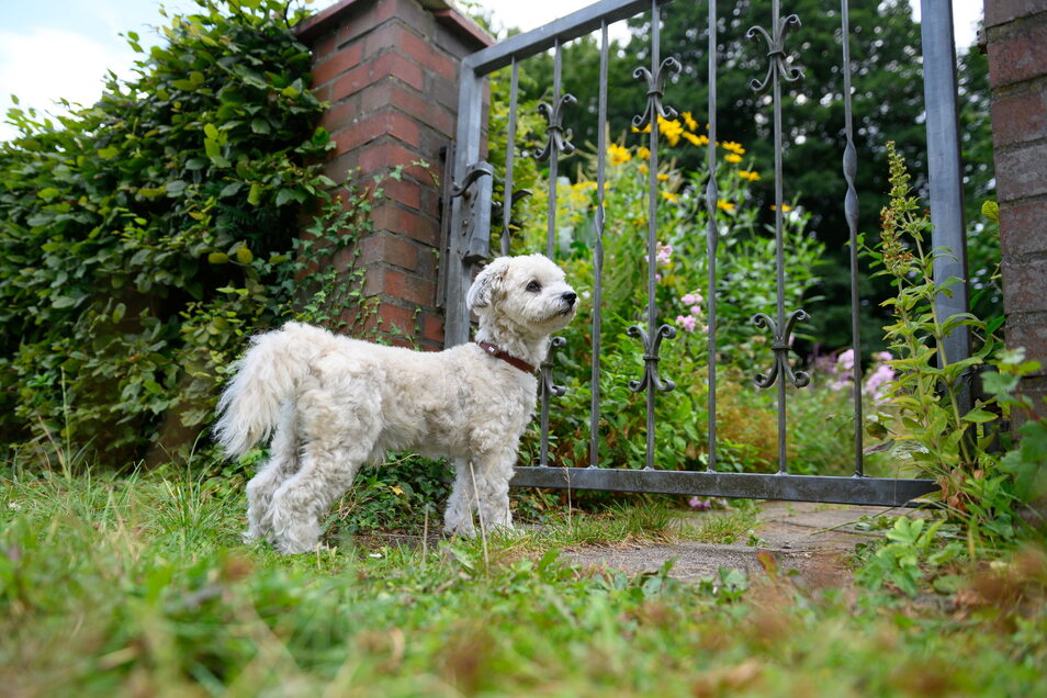
[(1047, 691), (1047, 565), (1033, 553), (950, 606), (727, 571), (699, 584), (594, 573), (558, 554), (626, 538), (736, 542), (751, 507), (686, 527), (657, 505), (572, 513), (492, 538), (486, 554), (476, 541), (356, 537), (281, 558), (239, 541), (243, 518), (233, 480), (8, 471), (0, 694)]

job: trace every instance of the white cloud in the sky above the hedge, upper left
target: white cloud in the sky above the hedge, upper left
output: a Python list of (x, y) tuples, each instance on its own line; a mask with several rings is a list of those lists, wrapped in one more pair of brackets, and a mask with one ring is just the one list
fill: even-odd
[[(15, 34), (0, 30), (0, 114), (11, 108), (11, 94), (20, 106), (52, 114), (64, 110), (59, 99), (93, 104), (102, 94), (105, 74), (131, 75), (134, 53), (113, 42), (102, 43), (65, 30), (37, 29)], [(0, 140), (15, 135), (0, 124)]]

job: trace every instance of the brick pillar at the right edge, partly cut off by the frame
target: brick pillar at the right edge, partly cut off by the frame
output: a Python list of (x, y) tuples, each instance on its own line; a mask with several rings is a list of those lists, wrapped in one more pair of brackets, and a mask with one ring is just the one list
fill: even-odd
[(992, 144), (1003, 250), (1006, 341), (1045, 369), (1025, 380), (1047, 395), (1047, 3), (987, 0)]

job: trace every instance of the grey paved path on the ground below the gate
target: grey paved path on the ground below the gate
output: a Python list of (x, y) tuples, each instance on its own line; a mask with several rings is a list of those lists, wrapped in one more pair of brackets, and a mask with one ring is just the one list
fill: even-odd
[[(759, 507), (761, 524), (755, 533), (761, 543), (755, 547), (634, 543), (585, 548), (564, 555), (584, 566), (621, 570), (628, 574), (656, 572), (667, 560), (675, 558), (671, 576), (684, 581), (714, 575), (720, 567), (736, 567), (750, 575), (761, 575), (769, 555), (779, 574), (795, 570), (815, 586), (838, 585), (848, 577), (846, 560), (855, 547), (880, 537), (855, 528), (855, 524), (862, 517), (888, 511), (882, 507), (796, 502), (766, 502)], [(762, 552), (766, 554), (761, 555)]]

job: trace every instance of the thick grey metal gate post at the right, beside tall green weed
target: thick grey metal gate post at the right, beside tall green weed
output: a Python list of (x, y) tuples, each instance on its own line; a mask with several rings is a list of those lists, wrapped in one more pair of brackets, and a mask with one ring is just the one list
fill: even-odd
[[(960, 161), (959, 112), (956, 98), (956, 49), (953, 37), (952, 0), (921, 0), (923, 35), (923, 92), (927, 110), (927, 174), (931, 183), (931, 245), (949, 254), (934, 261), (934, 283), (950, 277), (962, 280), (952, 286), (952, 297), (939, 294), (935, 307), (939, 319), (967, 313), (967, 237), (964, 221), (964, 180)], [(946, 337), (938, 360), (954, 363), (970, 356), (970, 331), (957, 327)], [(971, 408), (970, 383), (960, 387), (960, 410)]]

